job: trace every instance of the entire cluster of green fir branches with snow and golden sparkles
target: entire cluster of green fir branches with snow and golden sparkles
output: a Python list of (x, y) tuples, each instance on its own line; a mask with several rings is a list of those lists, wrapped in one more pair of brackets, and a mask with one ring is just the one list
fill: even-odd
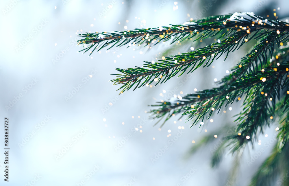
[[(80, 34), (81, 51), (120, 47), (123, 45), (143, 45), (151, 48), (162, 41), (187, 42), (213, 38), (216, 42), (203, 48), (182, 54), (171, 55), (158, 62), (144, 61), (143, 67), (116, 70), (118, 74), (111, 80), (120, 84), (121, 93), (150, 84), (161, 84), (183, 73), (192, 73), (198, 68), (210, 66), (214, 60), (238, 50), (242, 45), (255, 45), (231, 69), (230, 74), (221, 79), (219, 86), (212, 89), (178, 96), (175, 100), (165, 100), (152, 105), (151, 117), (163, 119), (164, 125), (173, 115), (187, 116), (191, 126), (209, 119), (227, 105), (242, 100), (242, 111), (236, 115), (233, 132), (223, 136), (222, 145), (214, 153), (212, 165), (218, 165), (226, 147), (233, 153), (242, 154), (248, 143), (254, 145), (258, 134), (266, 126), (280, 118), (278, 143), (272, 155), (253, 177), (251, 185), (272, 185), (278, 176), (284, 176), (288, 165), (282, 164), (289, 149), (289, 24), (283, 21), (264, 19), (249, 13), (235, 13), (186, 22), (169, 27), (128, 30), (123, 32), (102, 32)], [(253, 42), (249, 42), (249, 41)], [(225, 54), (225, 55), (223, 55)], [(201, 124), (199, 125), (201, 126)], [(223, 129), (222, 129), (223, 130)], [(225, 129), (224, 129), (225, 130)], [(214, 138), (206, 136), (199, 146)], [(286, 162), (289, 162), (288, 160)], [(288, 185), (282, 182), (281, 185)]]

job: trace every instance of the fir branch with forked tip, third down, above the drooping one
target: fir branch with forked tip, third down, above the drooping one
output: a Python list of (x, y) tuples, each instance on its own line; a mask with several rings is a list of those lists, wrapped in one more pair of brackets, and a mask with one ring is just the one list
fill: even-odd
[[(160, 118), (168, 114), (166, 117), (166, 120), (168, 120), (173, 115), (183, 113), (183, 115), (188, 115), (187, 120), (192, 119), (194, 121), (193, 126), (200, 119), (203, 121), (206, 115), (208, 115), (206, 119), (209, 119), (212, 113), (219, 112), (223, 105), (232, 104), (236, 98), (239, 101), (242, 95), (246, 95), (251, 89), (257, 91), (267, 84), (268, 87), (271, 87), (271, 79), (275, 79), (278, 75), (284, 75), (288, 67), (289, 64), (284, 64), (276, 68), (265, 68), (264, 72), (257, 71), (238, 78), (230, 86), (223, 85), (218, 88), (199, 91), (195, 94), (188, 94), (181, 97), (181, 100), (151, 105), (161, 106), (161, 108), (150, 111), (153, 114), (152, 118)], [(266, 78), (265, 82), (262, 81), (263, 78)]]

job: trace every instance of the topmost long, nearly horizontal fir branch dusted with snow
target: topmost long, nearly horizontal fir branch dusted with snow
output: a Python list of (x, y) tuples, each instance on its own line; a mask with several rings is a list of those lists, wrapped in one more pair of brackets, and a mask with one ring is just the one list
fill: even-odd
[[(231, 15), (211, 16), (192, 22), (186, 22), (183, 25), (171, 25), (171, 27), (79, 34), (78, 36), (84, 37), (84, 39), (78, 40), (78, 44), (83, 44), (84, 49), (81, 51), (84, 52), (94, 47), (90, 53), (91, 55), (95, 49), (98, 49), (97, 51), (99, 51), (106, 46), (110, 46), (108, 48), (110, 49), (113, 46), (119, 47), (129, 43), (149, 45), (154, 42), (157, 44), (160, 41), (167, 41), (171, 38), (173, 38), (173, 43), (175, 41), (190, 39), (198, 34), (203, 34), (200, 38), (205, 38), (219, 34), (222, 30), (240, 31), (240, 26), (242, 26), (242, 28), (247, 28), (249, 32), (251, 32), (251, 30), (259, 29), (280, 30), (280, 32), (284, 30), (288, 31), (289, 25), (285, 22), (266, 19), (265, 22), (262, 23), (262, 21), (264, 21), (262, 20), (262, 17), (253, 15), (249, 15), (251, 19), (230, 21), (228, 20), (230, 16)], [(212, 34), (212, 32), (216, 33)], [(223, 36), (225, 33), (222, 32), (221, 35)]]

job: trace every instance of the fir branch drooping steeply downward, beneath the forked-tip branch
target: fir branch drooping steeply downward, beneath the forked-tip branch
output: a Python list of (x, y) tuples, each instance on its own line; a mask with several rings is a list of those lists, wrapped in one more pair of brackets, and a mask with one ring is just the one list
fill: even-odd
[[(249, 93), (244, 101), (243, 111), (235, 120), (238, 123), (236, 131), (239, 131), (239, 133), (229, 137), (235, 144), (232, 149), (233, 152), (244, 147), (248, 141), (253, 145), (253, 142), (257, 139), (257, 133), (259, 131), (263, 133), (264, 126), (269, 126), (270, 119), (274, 117), (275, 99), (279, 87), (279, 78), (276, 78), (266, 86), (258, 87)], [(260, 94), (260, 90), (265, 91), (265, 93)]]

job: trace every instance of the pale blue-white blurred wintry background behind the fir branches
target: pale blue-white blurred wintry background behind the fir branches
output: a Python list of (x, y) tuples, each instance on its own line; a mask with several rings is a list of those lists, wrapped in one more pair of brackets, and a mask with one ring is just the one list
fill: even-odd
[[(108, 82), (116, 67), (142, 66), (144, 60), (209, 43), (160, 43), (149, 51), (142, 46), (115, 47), (88, 56), (77, 53), (81, 46), (76, 41), (85, 32), (168, 26), (234, 12), (254, 12), (269, 19), (275, 19), (276, 12), (278, 19), (285, 20), (287, 1), (3, 0), (0, 5), (0, 117), (3, 125), (4, 117), (10, 122), (10, 185), (242, 186), (250, 183), (270, 154), (274, 124), (260, 136), (260, 144), (245, 149), (239, 166), (226, 153), (220, 165), (211, 168), (221, 137), (190, 153), (205, 135), (234, 126), (232, 116), (240, 112), (239, 103), (214, 115), (214, 121), (206, 121), (201, 128), (190, 128), (185, 117), (175, 116), (161, 129), (160, 124), (153, 127), (156, 120), (148, 119), (148, 104), (217, 86), (216, 81), (251, 46), (165, 84), (118, 95), (119, 86)], [(2, 153), (2, 174), (4, 160)], [(234, 167), (238, 174), (230, 181)]]

